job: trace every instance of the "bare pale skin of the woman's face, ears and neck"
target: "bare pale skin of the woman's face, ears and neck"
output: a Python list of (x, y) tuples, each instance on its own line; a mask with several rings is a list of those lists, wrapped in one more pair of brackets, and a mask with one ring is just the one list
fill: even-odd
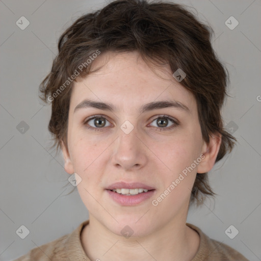
[[(211, 137), (208, 144), (203, 141), (196, 100), (168, 67), (152, 71), (136, 51), (100, 54), (92, 69), (100, 66), (74, 83), (68, 146), (62, 143), (65, 170), (82, 178), (77, 189), (89, 211), (90, 224), (81, 236), (83, 248), (91, 260), (192, 260), (200, 239), (186, 225), (190, 194), (196, 173), (212, 169), (220, 137)], [(85, 99), (113, 103), (119, 111), (81, 108), (74, 112)], [(181, 102), (190, 112), (162, 108), (139, 113), (145, 103), (159, 100)], [(107, 119), (106, 126), (98, 128), (94, 120), (86, 122), (100, 114)], [(174, 123), (167, 119), (167, 126), (159, 126), (156, 119), (162, 115), (179, 124), (168, 129)], [(126, 120), (134, 126), (129, 134), (120, 128)], [(201, 154), (204, 159), (193, 171), (153, 206), (151, 201)], [(116, 181), (143, 182), (155, 188), (155, 193), (138, 205), (120, 206), (105, 190)], [(129, 238), (121, 234), (126, 225), (133, 230)]]

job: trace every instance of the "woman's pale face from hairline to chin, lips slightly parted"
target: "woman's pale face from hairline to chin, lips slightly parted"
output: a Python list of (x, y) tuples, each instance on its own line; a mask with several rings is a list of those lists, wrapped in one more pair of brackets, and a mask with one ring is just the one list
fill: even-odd
[(136, 52), (101, 54), (92, 66), (102, 67), (73, 86), (63, 146), (90, 219), (139, 237), (184, 222), (196, 173), (211, 169), (219, 148), (202, 140), (194, 96)]

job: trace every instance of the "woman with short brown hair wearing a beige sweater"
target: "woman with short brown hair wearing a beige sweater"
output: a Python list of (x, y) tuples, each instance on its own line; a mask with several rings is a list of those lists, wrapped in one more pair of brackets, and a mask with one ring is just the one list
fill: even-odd
[(89, 211), (17, 260), (247, 260), (186, 223), (231, 151), (211, 30), (173, 3), (115, 1), (60, 37), (41, 84), (49, 131)]

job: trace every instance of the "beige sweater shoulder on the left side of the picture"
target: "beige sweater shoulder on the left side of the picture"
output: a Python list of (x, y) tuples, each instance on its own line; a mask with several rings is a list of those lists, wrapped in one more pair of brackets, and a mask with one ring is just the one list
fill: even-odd
[(81, 232), (88, 223), (89, 220), (84, 221), (71, 233), (36, 247), (14, 261), (67, 261), (75, 258), (89, 260), (81, 243)]

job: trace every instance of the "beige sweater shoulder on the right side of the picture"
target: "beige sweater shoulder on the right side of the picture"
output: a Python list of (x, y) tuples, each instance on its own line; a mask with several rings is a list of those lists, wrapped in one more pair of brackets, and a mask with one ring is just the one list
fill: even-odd
[(206, 236), (200, 228), (188, 223), (187, 225), (200, 236), (199, 249), (192, 261), (249, 261), (237, 250)]

